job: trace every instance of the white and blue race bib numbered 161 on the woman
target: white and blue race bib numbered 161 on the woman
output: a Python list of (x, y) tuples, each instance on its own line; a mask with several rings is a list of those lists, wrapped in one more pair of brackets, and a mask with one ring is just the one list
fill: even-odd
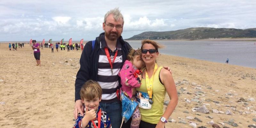
[[(152, 95), (153, 97), (153, 95)], [(151, 109), (152, 105), (149, 103), (149, 96), (146, 92), (136, 92), (136, 98), (140, 108)]]

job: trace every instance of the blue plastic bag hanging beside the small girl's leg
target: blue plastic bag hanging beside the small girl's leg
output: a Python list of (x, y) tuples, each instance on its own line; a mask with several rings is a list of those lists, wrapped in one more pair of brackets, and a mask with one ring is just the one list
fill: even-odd
[(121, 92), (122, 101), (122, 117), (126, 123), (132, 116), (132, 113), (136, 109), (138, 103), (130, 100), (123, 92)]

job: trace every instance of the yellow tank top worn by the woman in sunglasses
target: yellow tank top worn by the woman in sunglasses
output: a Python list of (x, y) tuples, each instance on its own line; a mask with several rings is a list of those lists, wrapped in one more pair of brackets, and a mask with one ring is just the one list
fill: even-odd
[[(164, 107), (164, 97), (166, 94), (166, 89), (163, 84), (159, 81), (159, 73), (160, 70), (163, 67), (159, 67), (155, 74), (154, 74), (154, 80), (153, 80), (153, 104), (151, 109), (143, 109), (140, 108), (140, 115), (141, 120), (151, 123), (151, 124), (157, 124), (161, 118), (161, 116), (164, 114), (163, 107)], [(152, 76), (151, 76), (152, 77)], [(146, 79), (141, 80), (141, 85), (139, 88), (136, 88), (137, 91), (140, 92), (147, 92), (146, 87)]]

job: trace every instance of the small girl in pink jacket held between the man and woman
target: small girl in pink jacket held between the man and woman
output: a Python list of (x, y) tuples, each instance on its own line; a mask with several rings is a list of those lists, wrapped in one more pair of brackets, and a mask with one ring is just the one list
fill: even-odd
[[(135, 97), (136, 87), (140, 87), (141, 71), (140, 68), (144, 65), (141, 58), (141, 49), (131, 49), (127, 55), (124, 65), (118, 76), (121, 78), (122, 87), (120, 93), (124, 93), (130, 100), (137, 101)], [(138, 106), (132, 114), (131, 128), (139, 128), (140, 125), (140, 111)]]

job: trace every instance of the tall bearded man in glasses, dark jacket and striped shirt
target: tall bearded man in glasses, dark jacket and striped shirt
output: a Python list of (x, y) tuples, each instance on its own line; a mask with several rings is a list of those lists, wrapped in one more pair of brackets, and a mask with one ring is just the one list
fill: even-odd
[[(114, 15), (116, 16), (114, 18)], [(119, 89), (118, 72), (123, 66), (126, 56), (131, 46), (125, 42), (121, 36), (123, 32), (124, 18), (118, 8), (107, 12), (102, 25), (105, 33), (101, 33), (96, 38), (94, 48), (92, 41), (86, 43), (81, 59), (80, 69), (76, 75), (75, 83), (75, 111), (74, 117), (77, 118), (77, 112), (83, 114), (84, 107), (79, 96), (80, 89), (87, 80), (97, 81), (102, 88), (101, 109), (107, 112), (113, 128), (120, 128), (122, 122), (122, 105), (116, 93)], [(107, 50), (107, 51), (105, 51)], [(110, 56), (110, 63), (107, 54)]]

